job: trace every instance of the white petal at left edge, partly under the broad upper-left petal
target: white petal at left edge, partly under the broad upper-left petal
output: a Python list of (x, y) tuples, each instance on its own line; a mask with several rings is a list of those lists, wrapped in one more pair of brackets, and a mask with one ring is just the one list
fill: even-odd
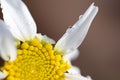
[(2, 20), (0, 20), (0, 56), (7, 61), (9, 59), (13, 61), (17, 56), (14, 38)]

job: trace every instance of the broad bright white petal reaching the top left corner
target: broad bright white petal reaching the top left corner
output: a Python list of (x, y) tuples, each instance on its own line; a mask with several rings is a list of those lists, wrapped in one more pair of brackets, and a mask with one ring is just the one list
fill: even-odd
[(36, 24), (22, 0), (1, 0), (5, 23), (13, 36), (19, 40), (29, 40), (36, 34)]

